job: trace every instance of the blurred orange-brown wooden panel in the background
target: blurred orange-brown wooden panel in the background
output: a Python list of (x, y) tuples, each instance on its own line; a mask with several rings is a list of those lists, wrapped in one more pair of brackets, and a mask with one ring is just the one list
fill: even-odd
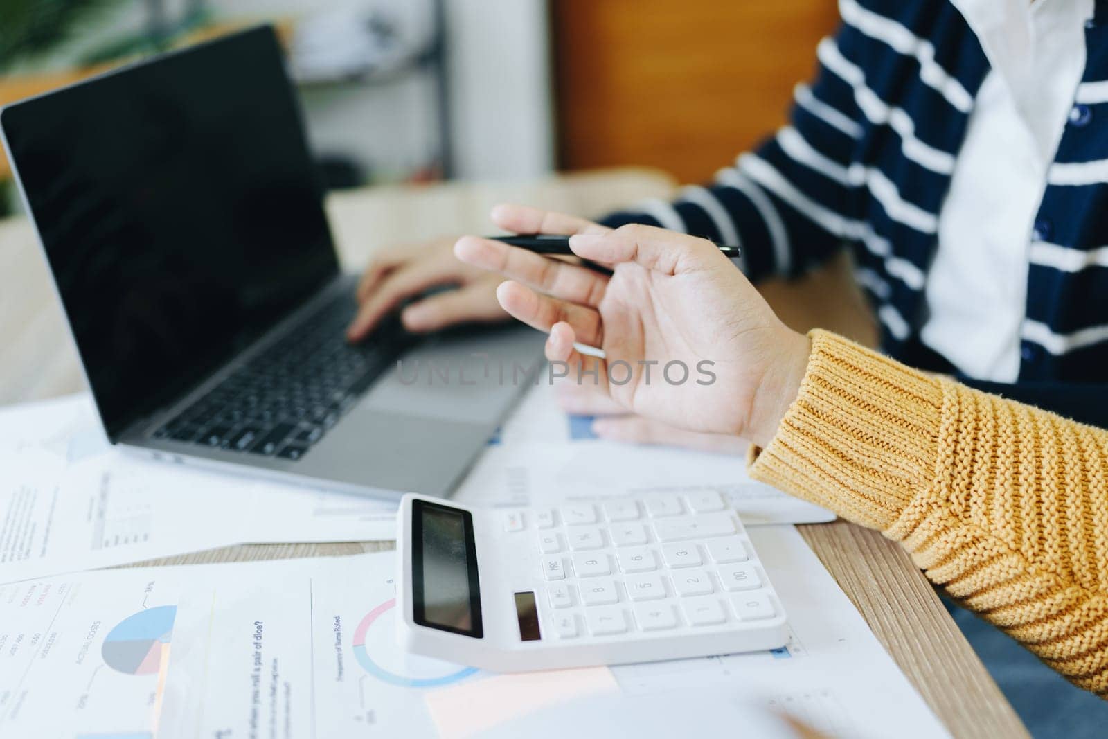
[(709, 178), (786, 117), (834, 0), (551, 0), (563, 168)]

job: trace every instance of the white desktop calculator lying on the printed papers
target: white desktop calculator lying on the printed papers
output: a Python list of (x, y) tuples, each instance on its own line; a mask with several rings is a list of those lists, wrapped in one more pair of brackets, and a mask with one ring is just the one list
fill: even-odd
[(774, 649), (786, 616), (715, 491), (470, 509), (400, 502), (410, 653), (499, 673)]

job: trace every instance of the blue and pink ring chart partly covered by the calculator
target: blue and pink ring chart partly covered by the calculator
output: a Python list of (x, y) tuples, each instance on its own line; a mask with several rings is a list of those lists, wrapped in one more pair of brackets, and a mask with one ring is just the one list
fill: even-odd
[(435, 688), (464, 680), (478, 670), (429, 657), (406, 655), (396, 643), (396, 598), (370, 610), (353, 633), (353, 656), (382, 682), (406, 688)]

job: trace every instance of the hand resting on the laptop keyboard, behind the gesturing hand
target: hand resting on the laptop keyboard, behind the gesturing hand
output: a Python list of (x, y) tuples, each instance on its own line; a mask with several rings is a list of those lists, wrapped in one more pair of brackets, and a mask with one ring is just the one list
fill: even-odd
[(424, 333), (465, 321), (506, 320), (507, 314), (496, 301), (502, 278), (459, 261), (454, 240), (401, 245), (377, 255), (358, 285), (358, 315), (347, 329), (347, 338), (360, 341), (401, 302), (444, 285), (455, 289), (412, 302), (401, 311), (404, 328)]

